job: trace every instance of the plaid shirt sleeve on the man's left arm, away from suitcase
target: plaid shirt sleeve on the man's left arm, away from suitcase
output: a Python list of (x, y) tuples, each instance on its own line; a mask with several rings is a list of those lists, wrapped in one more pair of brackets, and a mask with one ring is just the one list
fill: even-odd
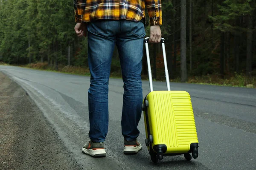
[(86, 0), (74, 0), (75, 22), (81, 23), (86, 5)]

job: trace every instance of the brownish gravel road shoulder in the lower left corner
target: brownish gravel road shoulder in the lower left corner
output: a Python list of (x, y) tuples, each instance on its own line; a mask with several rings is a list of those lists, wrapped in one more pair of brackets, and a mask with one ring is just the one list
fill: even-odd
[(0, 72), (0, 170), (81, 169), (26, 92)]

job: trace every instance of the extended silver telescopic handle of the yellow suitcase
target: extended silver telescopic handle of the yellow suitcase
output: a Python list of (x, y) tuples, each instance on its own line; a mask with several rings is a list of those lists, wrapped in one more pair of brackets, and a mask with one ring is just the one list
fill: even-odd
[[(149, 57), (149, 51), (148, 51), (148, 40), (150, 37), (145, 38), (145, 47), (146, 47), (146, 55), (147, 55), (147, 62), (148, 62), (148, 79), (149, 79), (149, 87), (150, 92), (153, 91), (153, 81), (152, 81), (152, 74), (151, 74), (151, 65), (150, 65), (150, 57)], [(163, 62), (164, 62), (164, 68), (165, 68), (165, 76), (166, 76), (166, 85), (167, 90), (170, 91), (170, 79), (169, 79), (169, 73), (167, 68), (167, 61), (166, 61), (166, 51), (165, 51), (165, 44), (164, 44), (164, 38), (161, 38), (162, 48), (163, 48)]]

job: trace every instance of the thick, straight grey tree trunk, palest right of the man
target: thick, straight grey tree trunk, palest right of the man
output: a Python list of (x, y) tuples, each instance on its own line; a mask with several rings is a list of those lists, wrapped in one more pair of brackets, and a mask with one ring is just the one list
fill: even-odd
[(181, 0), (180, 12), (180, 59), (181, 82), (187, 81), (186, 70), (186, 0)]

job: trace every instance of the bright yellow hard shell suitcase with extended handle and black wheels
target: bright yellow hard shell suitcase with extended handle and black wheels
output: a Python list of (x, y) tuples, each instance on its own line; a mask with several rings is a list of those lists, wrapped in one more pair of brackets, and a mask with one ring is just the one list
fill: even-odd
[[(167, 91), (153, 91), (148, 51), (149, 37), (145, 38), (150, 93), (143, 100), (146, 139), (151, 160), (157, 163), (163, 156), (184, 154), (186, 160), (198, 157), (198, 136), (191, 98), (186, 91), (171, 91), (166, 62), (164, 39), (161, 38)], [(192, 156), (190, 155), (192, 153)]]

